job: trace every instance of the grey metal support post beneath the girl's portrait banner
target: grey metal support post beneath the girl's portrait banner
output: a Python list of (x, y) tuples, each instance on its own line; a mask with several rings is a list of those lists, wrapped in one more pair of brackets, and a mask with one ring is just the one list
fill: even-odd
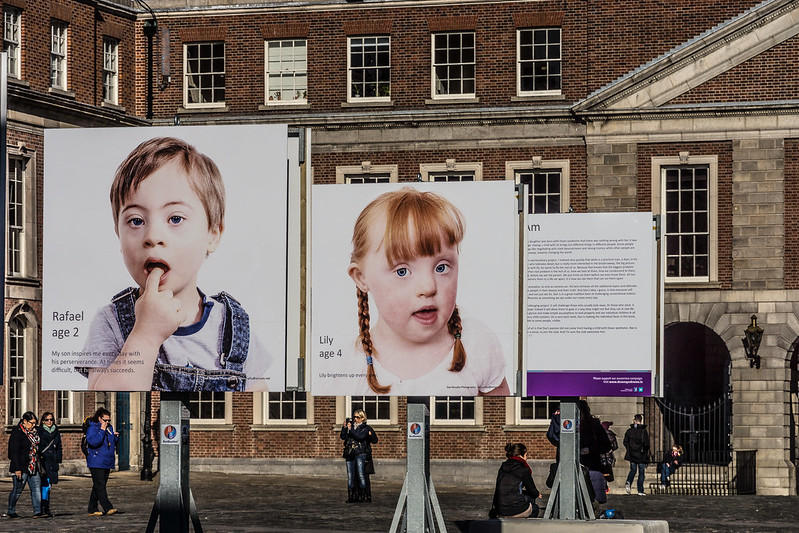
[(407, 467), (390, 533), (447, 531), (430, 477), (430, 410), (427, 401), (426, 397), (408, 398)]

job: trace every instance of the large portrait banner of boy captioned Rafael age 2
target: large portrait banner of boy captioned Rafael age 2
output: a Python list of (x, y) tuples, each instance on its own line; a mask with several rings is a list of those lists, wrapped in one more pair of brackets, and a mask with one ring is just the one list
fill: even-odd
[(287, 136), (45, 131), (42, 389), (285, 389)]

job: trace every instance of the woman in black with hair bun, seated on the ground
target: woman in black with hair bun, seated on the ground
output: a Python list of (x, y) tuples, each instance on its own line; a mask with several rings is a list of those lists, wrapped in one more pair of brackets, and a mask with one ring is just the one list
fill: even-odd
[(488, 516), (491, 518), (535, 518), (541, 494), (533, 482), (533, 470), (527, 464), (527, 446), (521, 442), (505, 446), (507, 461), (497, 472), (494, 500)]

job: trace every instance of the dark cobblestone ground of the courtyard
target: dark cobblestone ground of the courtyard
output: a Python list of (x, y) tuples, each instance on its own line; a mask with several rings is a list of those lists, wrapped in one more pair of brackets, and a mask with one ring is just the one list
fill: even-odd
[[(345, 504), (346, 481), (263, 475), (192, 473), (191, 488), (205, 532), (385, 532), (397, 506), (401, 484), (373, 483), (371, 504)], [(6, 501), (10, 478), (0, 480)], [(140, 481), (138, 473), (113, 473), (109, 495), (120, 512), (90, 517), (88, 476), (64, 476), (53, 492), (56, 516), (33, 520), (29, 493), (17, 504), (20, 519), (0, 519), (0, 531), (144, 532), (158, 490), (158, 478)], [(491, 487), (436, 487), (447, 531), (466, 531), (471, 520), (486, 517)], [(625, 518), (666, 520), (672, 532), (798, 532), (799, 497), (673, 496), (611, 494), (605, 507)], [(160, 525), (155, 531), (161, 531)], [(163, 532), (162, 532), (163, 533)]]

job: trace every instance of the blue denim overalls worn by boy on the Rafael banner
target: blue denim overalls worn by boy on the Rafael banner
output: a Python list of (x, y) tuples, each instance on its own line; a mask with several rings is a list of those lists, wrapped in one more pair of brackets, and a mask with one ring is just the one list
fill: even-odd
[[(136, 322), (135, 304), (138, 289), (130, 287), (111, 300), (117, 313), (119, 327), (125, 339)], [(153, 389), (174, 392), (243, 391), (247, 381), (244, 360), (250, 346), (250, 317), (232, 296), (221, 292), (211, 296), (225, 306), (222, 325), (222, 353), (220, 362), (224, 370), (204, 370), (192, 366), (155, 364)], [(160, 354), (163, 355), (161, 347)]]

